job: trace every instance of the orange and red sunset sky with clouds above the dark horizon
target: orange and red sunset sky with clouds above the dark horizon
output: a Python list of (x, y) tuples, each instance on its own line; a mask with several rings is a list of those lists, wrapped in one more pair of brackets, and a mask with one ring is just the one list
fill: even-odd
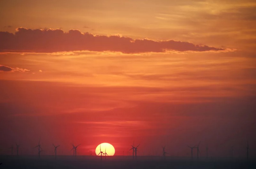
[[(0, 0), (0, 154), (256, 157), (253, 0)], [(130, 151), (132, 153), (132, 151)], [(195, 151), (196, 153), (196, 151)]]

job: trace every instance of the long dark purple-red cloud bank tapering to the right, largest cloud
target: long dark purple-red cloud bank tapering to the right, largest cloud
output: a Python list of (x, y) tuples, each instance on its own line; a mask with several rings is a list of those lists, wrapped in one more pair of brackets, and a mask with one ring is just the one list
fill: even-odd
[(122, 53), (164, 53), (168, 51), (222, 51), (222, 48), (195, 45), (175, 40), (154, 41), (132, 39), (118, 35), (101, 36), (78, 30), (26, 29), (18, 32), (0, 32), (0, 52), (53, 53), (64, 51), (113, 51)]

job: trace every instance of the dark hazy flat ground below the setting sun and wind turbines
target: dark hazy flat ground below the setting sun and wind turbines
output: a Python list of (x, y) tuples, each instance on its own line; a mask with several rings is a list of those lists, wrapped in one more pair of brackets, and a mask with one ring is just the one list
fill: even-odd
[(59, 156), (55, 160), (54, 156), (0, 156), (0, 169), (62, 169), (62, 168), (88, 168), (88, 169), (255, 169), (255, 160), (196, 160), (166, 157), (140, 156), (132, 159), (131, 156), (105, 157), (100, 160), (96, 156)]

